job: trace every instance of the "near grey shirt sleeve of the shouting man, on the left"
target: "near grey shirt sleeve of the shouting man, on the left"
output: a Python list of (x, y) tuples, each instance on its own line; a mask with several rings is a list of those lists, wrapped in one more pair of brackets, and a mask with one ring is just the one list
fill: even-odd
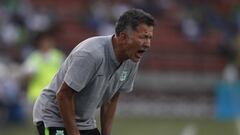
[(81, 91), (96, 73), (96, 59), (86, 52), (72, 55), (64, 82), (75, 91)]

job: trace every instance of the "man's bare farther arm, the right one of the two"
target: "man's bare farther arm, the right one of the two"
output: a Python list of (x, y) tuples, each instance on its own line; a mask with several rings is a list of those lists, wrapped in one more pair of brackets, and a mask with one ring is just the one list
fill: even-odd
[(102, 135), (111, 135), (113, 117), (117, 108), (119, 93), (116, 93), (110, 102), (101, 107), (101, 132)]

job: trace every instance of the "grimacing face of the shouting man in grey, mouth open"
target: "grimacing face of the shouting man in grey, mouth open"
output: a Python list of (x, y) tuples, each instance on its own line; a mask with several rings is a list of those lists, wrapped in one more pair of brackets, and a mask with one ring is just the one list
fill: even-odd
[(150, 48), (153, 36), (153, 26), (140, 24), (128, 34), (126, 55), (134, 62), (138, 62), (143, 54)]

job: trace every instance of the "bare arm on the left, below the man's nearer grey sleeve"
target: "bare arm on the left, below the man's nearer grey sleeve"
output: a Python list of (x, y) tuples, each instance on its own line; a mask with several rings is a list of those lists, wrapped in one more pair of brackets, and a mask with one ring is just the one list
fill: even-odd
[(64, 121), (68, 135), (80, 135), (75, 122), (74, 95), (75, 91), (65, 82), (57, 93), (59, 110)]

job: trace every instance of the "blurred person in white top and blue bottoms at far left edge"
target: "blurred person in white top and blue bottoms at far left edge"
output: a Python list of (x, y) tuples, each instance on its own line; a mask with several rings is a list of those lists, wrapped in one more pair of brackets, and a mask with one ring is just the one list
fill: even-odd
[(10, 60), (3, 61), (0, 61), (0, 124), (22, 122), (24, 107), (21, 102), (22, 91), (17, 78), (19, 66)]

